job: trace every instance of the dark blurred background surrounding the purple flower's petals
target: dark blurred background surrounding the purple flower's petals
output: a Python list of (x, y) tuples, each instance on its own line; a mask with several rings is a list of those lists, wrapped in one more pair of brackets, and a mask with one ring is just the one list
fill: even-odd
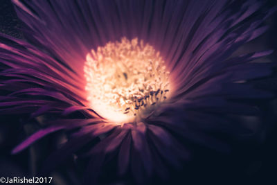
[[(277, 6), (274, 0), (267, 2), (267, 6), (274, 5)], [(267, 33), (240, 51), (277, 49), (277, 14), (267, 19), (266, 24), (271, 26)], [(21, 23), (10, 1), (0, 0), (0, 32), (24, 39), (19, 28)], [(267, 60), (276, 62), (276, 53)], [(277, 73), (260, 80), (258, 88), (273, 89), (276, 93)], [(261, 107), (265, 112), (262, 120), (265, 128), (243, 142), (229, 139), (233, 146), (229, 154), (195, 146), (193, 160), (179, 172), (172, 170), (170, 181), (166, 184), (277, 184), (277, 100), (261, 103)], [(22, 115), (1, 116), (0, 122), (0, 177), (33, 177), (48, 150), (51, 150), (53, 141), (59, 140), (62, 133), (47, 136), (19, 155), (10, 155), (12, 148), (37, 127), (33, 123), (26, 124)], [(72, 161), (49, 175), (53, 177), (53, 184), (80, 184), (82, 164), (75, 166)], [(103, 184), (125, 184), (125, 179), (114, 180), (112, 172), (107, 174), (103, 177)], [(157, 180), (156, 183), (161, 182)]]

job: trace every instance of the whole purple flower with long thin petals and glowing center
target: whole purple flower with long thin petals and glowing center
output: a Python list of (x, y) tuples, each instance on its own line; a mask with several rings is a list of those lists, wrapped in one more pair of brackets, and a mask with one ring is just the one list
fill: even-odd
[(166, 177), (189, 159), (187, 141), (228, 151), (208, 133), (243, 134), (228, 116), (257, 116), (246, 100), (270, 96), (248, 81), (271, 73), (252, 62), (271, 51), (232, 55), (267, 30), (260, 1), (13, 3), (28, 29), (26, 41), (1, 35), (1, 114), (55, 115), (12, 153), (71, 131), (46, 171), (100, 139), (84, 154), (91, 180), (109, 160), (139, 183)]

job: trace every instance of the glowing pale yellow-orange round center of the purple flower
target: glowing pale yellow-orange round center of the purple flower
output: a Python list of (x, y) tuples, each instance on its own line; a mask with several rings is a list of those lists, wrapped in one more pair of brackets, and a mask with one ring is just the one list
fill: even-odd
[(141, 40), (108, 42), (84, 64), (91, 107), (116, 123), (139, 121), (168, 98), (169, 72), (159, 52)]

